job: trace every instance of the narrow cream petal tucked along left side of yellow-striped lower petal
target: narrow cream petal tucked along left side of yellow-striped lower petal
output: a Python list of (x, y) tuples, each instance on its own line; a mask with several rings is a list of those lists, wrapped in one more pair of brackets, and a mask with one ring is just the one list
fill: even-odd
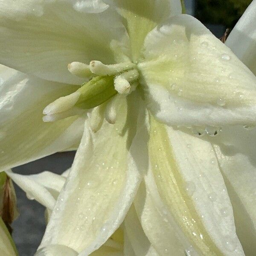
[(159, 255), (184, 256), (191, 244), (161, 201), (151, 172), (146, 175), (146, 184), (141, 184), (134, 205), (148, 240)]

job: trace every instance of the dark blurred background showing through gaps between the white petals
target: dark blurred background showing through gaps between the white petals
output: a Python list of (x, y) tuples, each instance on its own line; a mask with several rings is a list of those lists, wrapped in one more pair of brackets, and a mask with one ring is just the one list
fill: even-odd
[[(185, 0), (187, 14), (193, 15), (221, 38), (226, 29), (232, 29), (252, 0)], [(19, 166), (14, 172), (34, 174), (51, 171), (61, 174), (68, 169), (75, 152), (57, 153), (49, 157)], [(30, 201), (26, 194), (15, 186), (20, 217), (12, 224), (13, 238), (20, 256), (32, 256), (44, 234), (44, 207)]]

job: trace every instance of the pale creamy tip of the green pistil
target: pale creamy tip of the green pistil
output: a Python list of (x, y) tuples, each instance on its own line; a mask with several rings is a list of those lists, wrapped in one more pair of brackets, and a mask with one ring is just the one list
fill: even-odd
[(74, 107), (76, 102), (79, 100), (81, 93), (76, 91), (70, 95), (60, 97), (54, 102), (50, 103), (46, 108), (44, 108), (43, 113), (45, 115), (51, 115), (55, 113), (60, 113), (69, 110)]

